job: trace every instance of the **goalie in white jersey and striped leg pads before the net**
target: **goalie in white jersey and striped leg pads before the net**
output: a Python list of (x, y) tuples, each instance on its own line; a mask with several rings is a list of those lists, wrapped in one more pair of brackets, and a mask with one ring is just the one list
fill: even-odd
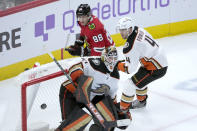
[[(90, 131), (114, 130), (115, 126), (110, 127), (109, 124), (106, 124), (106, 128), (104, 128), (94, 115), (89, 115), (82, 110), (83, 107), (86, 107), (84, 99), (95, 105), (104, 121), (109, 123), (116, 122), (118, 119), (130, 121), (129, 111), (122, 112), (113, 102), (120, 77), (118, 63), (117, 50), (114, 46), (104, 49), (101, 57), (80, 58), (78, 62), (68, 63), (70, 66), (67, 72), (77, 87), (73, 86), (69, 80), (61, 85), (59, 99), (63, 121), (56, 131), (82, 131), (91, 119), (95, 124), (90, 127)], [(83, 91), (78, 91), (80, 89)], [(125, 129), (126, 127), (120, 126), (119, 128)]]

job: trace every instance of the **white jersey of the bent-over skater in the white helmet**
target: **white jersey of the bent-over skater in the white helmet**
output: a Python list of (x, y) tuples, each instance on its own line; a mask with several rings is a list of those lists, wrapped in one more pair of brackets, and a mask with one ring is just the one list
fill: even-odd
[(137, 26), (126, 41), (123, 54), (126, 57), (125, 66), (128, 67), (128, 73), (134, 73), (139, 63), (147, 70), (161, 69), (168, 65), (166, 56), (157, 42), (147, 31)]

